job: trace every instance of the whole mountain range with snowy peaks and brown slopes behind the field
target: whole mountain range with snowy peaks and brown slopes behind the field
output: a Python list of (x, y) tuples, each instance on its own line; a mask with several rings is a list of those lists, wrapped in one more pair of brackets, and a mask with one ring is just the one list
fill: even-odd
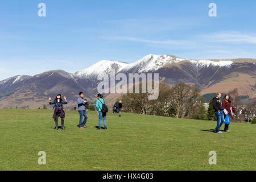
[[(101, 60), (91, 67), (68, 73), (62, 70), (48, 71), (35, 76), (8, 78), (0, 81), (1, 107), (42, 107), (47, 97), (63, 94), (68, 97), (68, 107), (76, 106), (77, 95), (95, 99), (97, 76), (116, 73), (159, 73), (161, 81), (170, 85), (185, 82), (201, 88), (202, 93), (228, 92), (238, 88), (241, 95), (256, 98), (256, 59), (192, 60), (172, 55), (147, 55), (134, 63)], [(227, 86), (228, 85), (228, 86)]]

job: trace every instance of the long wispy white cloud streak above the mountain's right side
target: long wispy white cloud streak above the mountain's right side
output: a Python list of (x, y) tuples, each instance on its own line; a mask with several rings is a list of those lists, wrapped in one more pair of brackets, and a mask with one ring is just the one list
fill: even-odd
[[(237, 44), (243, 44), (250, 46), (256, 44), (256, 36), (253, 33), (242, 34), (240, 32), (217, 32), (214, 34), (203, 34), (191, 36), (186, 40), (166, 39), (166, 40), (153, 40), (145, 39), (134, 36), (101, 36), (100, 38), (108, 40), (123, 40), (129, 42), (139, 42), (148, 44), (151, 47), (158, 48), (178, 48), (182, 46), (182, 49), (212, 49), (219, 50), (219, 53), (231, 53), (230, 47)], [(228, 46), (228, 47), (227, 47)], [(225, 49), (228, 48), (228, 49)], [(221, 49), (220, 49), (221, 48)], [(223, 48), (223, 49), (222, 49)], [(239, 47), (236, 47), (239, 48)], [(241, 47), (242, 48), (242, 47)], [(243, 47), (244, 48), (244, 47)], [(250, 47), (251, 48), (251, 47)], [(254, 55), (254, 54), (253, 54)]]

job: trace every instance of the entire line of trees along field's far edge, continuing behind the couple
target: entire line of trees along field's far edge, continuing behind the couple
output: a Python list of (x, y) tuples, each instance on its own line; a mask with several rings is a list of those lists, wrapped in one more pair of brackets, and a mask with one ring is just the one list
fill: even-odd
[[(141, 86), (140, 83), (139, 93), (127, 93), (118, 98), (122, 100), (123, 111), (216, 121), (216, 115), (212, 107), (212, 98), (216, 96), (216, 93), (205, 94), (203, 97), (200, 95), (201, 89), (195, 86), (189, 86), (181, 82), (171, 88), (170, 85), (159, 82), (159, 97), (156, 100), (148, 100), (150, 93), (142, 93)], [(222, 97), (224, 95), (225, 93)], [(230, 90), (228, 95), (232, 101), (232, 107), (237, 108), (237, 113), (234, 114), (235, 119), (244, 121), (246, 118), (255, 117), (256, 102), (246, 106), (246, 108), (241, 107), (242, 98), (249, 98), (249, 96), (239, 96), (237, 89)], [(205, 97), (209, 101), (208, 108), (205, 108), (204, 105)]]

